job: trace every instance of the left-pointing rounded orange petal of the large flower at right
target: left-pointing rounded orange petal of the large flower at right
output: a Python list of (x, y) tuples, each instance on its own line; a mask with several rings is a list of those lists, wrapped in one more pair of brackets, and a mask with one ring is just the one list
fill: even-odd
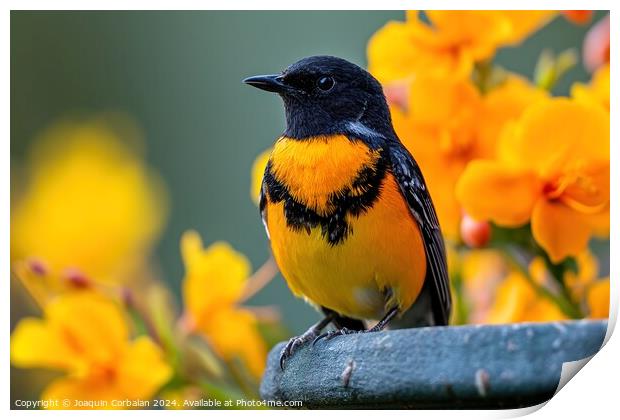
[(457, 199), (470, 216), (502, 226), (526, 223), (539, 192), (531, 172), (488, 160), (470, 162), (456, 185)]

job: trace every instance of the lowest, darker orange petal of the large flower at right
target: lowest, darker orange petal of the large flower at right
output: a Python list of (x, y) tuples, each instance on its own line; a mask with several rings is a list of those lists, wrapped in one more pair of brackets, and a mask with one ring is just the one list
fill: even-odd
[(541, 199), (532, 212), (532, 234), (557, 263), (584, 251), (592, 228), (587, 216), (561, 203)]

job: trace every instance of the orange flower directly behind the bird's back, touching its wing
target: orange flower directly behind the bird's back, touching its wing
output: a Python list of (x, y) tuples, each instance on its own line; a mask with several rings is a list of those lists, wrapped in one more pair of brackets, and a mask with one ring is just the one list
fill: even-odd
[(392, 106), (394, 128), (422, 168), (444, 234), (458, 238), (454, 188), (465, 167), (494, 157), (504, 126), (546, 94), (515, 75), (483, 97), (469, 80), (417, 78), (408, 89), (407, 109)]

